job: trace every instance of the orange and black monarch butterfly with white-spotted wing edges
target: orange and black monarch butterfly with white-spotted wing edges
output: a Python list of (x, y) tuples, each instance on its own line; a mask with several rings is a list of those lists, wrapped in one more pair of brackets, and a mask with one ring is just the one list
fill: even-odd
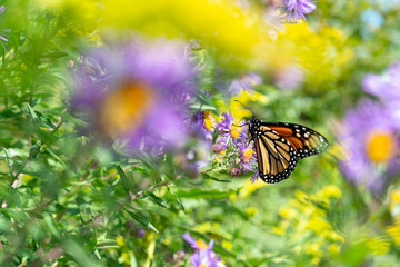
[(328, 147), (322, 135), (301, 125), (262, 122), (254, 117), (248, 123), (259, 175), (268, 184), (287, 179), (300, 159), (320, 154)]

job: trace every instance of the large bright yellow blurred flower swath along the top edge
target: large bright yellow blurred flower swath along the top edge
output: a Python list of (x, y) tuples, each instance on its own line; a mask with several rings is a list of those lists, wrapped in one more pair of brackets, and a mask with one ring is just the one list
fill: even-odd
[(201, 40), (202, 46), (217, 48), (217, 55), (229, 56), (227, 67), (266, 69), (273, 62), (261, 11), (243, 9), (233, 0), (63, 0), (58, 7), (73, 13), (83, 28), (97, 23), (124, 36), (131, 29), (149, 37)]

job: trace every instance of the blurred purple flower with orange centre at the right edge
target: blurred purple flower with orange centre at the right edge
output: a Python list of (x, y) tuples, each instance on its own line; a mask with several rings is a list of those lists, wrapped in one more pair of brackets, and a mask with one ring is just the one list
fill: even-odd
[(387, 178), (398, 169), (398, 131), (390, 110), (377, 102), (364, 100), (357, 110), (349, 111), (339, 135), (347, 154), (341, 166), (348, 180), (381, 192)]

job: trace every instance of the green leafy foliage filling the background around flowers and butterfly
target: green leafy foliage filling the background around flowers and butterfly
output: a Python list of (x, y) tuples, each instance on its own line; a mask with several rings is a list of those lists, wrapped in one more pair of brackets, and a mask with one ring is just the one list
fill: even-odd
[[(256, 97), (247, 105), (264, 120), (316, 128), (331, 148), (300, 161), (287, 181), (264, 187), (219, 169), (181, 170), (179, 155), (127, 156), (118, 144), (99, 145), (69, 102), (69, 70), (83, 48), (98, 44), (97, 32), (33, 3), (2, 3), (0, 28), (10, 29), (9, 41), (0, 41), (2, 266), (190, 266), (186, 231), (213, 239), (227, 266), (397, 266), (400, 200), (390, 192), (399, 182), (379, 197), (349, 185), (334, 136), (336, 121), (364, 97), (362, 77), (399, 56), (399, 8), (362, 37), (357, 18), (373, 3), (318, 1), (311, 28), (340, 29), (353, 59), (324, 87), (282, 91), (266, 81), (256, 91), (267, 103)], [(230, 99), (216, 85), (242, 71), (219, 76), (211, 49), (191, 57), (203, 68), (202, 93), (191, 108), (219, 116)], [(180, 250), (187, 255), (178, 260)]]

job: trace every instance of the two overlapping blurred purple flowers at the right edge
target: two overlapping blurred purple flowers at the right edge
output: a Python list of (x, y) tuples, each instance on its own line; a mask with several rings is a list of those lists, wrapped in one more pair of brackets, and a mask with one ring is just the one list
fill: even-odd
[(363, 80), (366, 92), (381, 103), (363, 100), (356, 110), (348, 111), (339, 140), (347, 157), (341, 166), (348, 180), (364, 185), (380, 194), (389, 178), (400, 170), (400, 62), (382, 76), (368, 75)]

